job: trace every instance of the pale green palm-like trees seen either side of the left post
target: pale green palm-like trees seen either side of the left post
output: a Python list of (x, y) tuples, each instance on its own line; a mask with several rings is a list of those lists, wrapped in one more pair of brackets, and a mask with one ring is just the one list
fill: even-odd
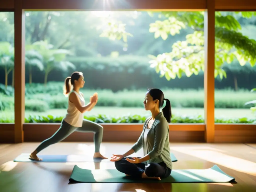
[[(68, 68), (75, 69), (73, 63), (66, 60), (66, 55), (72, 55), (66, 49), (54, 49), (47, 41), (36, 41), (26, 45), (25, 62), (29, 69), (29, 83), (32, 83), (32, 67), (37, 67), (45, 72), (44, 83), (47, 83), (48, 74), (53, 69), (67, 71)], [(0, 66), (5, 70), (5, 87), (8, 85), (8, 74), (14, 72), (14, 47), (9, 42), (0, 42)], [(14, 86), (14, 78), (12, 82)]]

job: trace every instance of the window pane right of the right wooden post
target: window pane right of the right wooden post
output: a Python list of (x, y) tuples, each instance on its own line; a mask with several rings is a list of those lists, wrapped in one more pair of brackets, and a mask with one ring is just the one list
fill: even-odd
[(256, 88), (255, 15), (216, 12), (216, 122), (254, 122), (255, 92), (251, 90)]

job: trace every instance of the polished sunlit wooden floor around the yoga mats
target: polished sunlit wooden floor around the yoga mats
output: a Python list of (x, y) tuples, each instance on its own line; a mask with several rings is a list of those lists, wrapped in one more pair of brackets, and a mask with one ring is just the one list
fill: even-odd
[[(133, 143), (102, 143), (106, 156), (123, 153)], [(178, 162), (173, 169), (205, 169), (217, 164), (225, 173), (236, 178), (231, 183), (162, 183), (118, 184), (81, 183), (68, 184), (74, 165), (87, 169), (112, 169), (113, 163), (16, 163), (13, 159), (21, 153), (30, 153), (38, 143), (0, 144), (1, 192), (65, 192), (65, 191), (256, 191), (256, 144), (198, 144), (171, 143), (171, 151)], [(58, 143), (40, 154), (88, 154), (94, 151), (93, 143)], [(142, 155), (142, 150), (137, 156)]]

